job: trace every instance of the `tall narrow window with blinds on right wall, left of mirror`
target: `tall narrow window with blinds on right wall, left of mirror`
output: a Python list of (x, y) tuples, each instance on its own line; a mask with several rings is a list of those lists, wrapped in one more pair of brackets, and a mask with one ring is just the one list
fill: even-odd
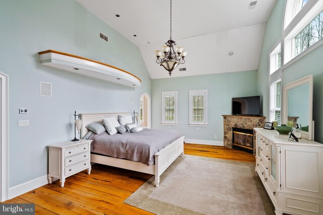
[(277, 80), (270, 86), (270, 120), (281, 123), (282, 82)]

